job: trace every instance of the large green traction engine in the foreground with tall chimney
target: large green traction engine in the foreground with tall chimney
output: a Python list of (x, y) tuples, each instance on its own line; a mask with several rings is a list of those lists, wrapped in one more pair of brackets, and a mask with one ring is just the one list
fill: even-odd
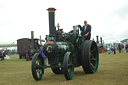
[(43, 52), (48, 58), (48, 65), (44, 64), (41, 53), (35, 53), (32, 58), (32, 75), (35, 80), (41, 80), (44, 70), (51, 68), (55, 74), (64, 74), (67, 80), (74, 76), (74, 68), (82, 66), (86, 74), (95, 73), (98, 69), (99, 53), (95, 41), (84, 40), (84, 33), (80, 25), (74, 26), (71, 33), (63, 33), (55, 27), (55, 8), (48, 8), (49, 35)]

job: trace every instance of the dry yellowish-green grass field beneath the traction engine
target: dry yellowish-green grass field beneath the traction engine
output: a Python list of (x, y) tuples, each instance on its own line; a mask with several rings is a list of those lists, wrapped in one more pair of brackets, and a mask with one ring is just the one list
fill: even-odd
[(75, 68), (73, 80), (55, 75), (50, 68), (44, 78), (35, 81), (31, 73), (31, 61), (19, 59), (0, 60), (0, 85), (128, 85), (128, 53), (100, 54), (99, 68), (95, 74), (85, 74), (82, 67)]

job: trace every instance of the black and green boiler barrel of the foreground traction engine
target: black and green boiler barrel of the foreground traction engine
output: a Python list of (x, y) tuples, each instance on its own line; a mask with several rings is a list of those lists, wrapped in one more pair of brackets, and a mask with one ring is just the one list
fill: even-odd
[(70, 42), (46, 42), (43, 48), (44, 54), (50, 57), (64, 56), (66, 52), (74, 52), (74, 46)]

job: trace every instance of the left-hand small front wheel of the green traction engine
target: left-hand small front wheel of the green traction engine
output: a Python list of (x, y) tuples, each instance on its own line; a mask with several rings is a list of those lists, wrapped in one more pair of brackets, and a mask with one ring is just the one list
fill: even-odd
[(36, 81), (41, 80), (44, 75), (44, 68), (42, 67), (43, 65), (44, 65), (43, 58), (39, 53), (35, 53), (32, 58), (31, 70), (32, 70), (33, 78)]

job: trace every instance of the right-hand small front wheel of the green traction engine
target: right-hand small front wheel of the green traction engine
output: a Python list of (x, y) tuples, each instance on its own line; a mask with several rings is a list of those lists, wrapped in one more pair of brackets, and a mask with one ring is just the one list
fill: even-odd
[(74, 76), (73, 57), (70, 52), (67, 52), (63, 60), (64, 76), (67, 80), (71, 80)]

